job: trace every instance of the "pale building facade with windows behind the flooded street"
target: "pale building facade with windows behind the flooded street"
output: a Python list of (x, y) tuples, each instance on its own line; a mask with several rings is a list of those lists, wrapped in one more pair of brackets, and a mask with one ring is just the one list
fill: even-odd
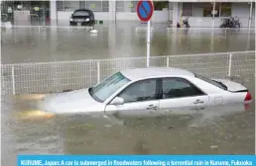
[[(19, 1), (10, 2), (15, 2), (16, 5), (19, 4)], [(81, 8), (92, 10), (95, 19), (104, 22), (140, 22), (136, 14), (138, 0), (51, 0), (42, 2), (20, 1), (24, 8), (28, 9), (37, 5), (44, 5), (43, 8), (47, 8), (46, 11), (48, 12), (47, 19), (50, 19), (52, 25), (68, 25), (71, 13)], [(15, 10), (16, 5), (14, 5), (13, 10)], [(2, 14), (10, 4), (5, 6), (5, 10), (1, 9)], [(154, 1), (154, 7), (153, 23), (171, 22), (174, 23), (173, 26), (175, 27), (184, 18), (189, 18), (191, 27), (219, 27), (223, 18), (237, 17), (243, 28), (255, 27), (255, 2), (253, 0), (225, 0), (224, 2), (157, 0)], [(216, 11), (214, 16), (211, 13), (212, 11)]]

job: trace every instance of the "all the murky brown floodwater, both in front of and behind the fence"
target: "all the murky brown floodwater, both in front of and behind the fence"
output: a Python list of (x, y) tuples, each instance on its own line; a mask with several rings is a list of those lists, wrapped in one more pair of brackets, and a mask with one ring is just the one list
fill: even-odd
[[(145, 25), (137, 25), (137, 27)], [(255, 50), (255, 32), (215, 29), (167, 31), (155, 25), (151, 54)], [(144, 56), (146, 33), (136, 25), (85, 29), (19, 28), (2, 31), (2, 63)], [(255, 98), (255, 76), (242, 76)], [(18, 154), (254, 154), (255, 107), (201, 120), (185, 117), (121, 118), (58, 116), (40, 112), (41, 95), (2, 96), (2, 164)], [(239, 110), (240, 109), (240, 110)], [(218, 110), (219, 111), (219, 110)]]

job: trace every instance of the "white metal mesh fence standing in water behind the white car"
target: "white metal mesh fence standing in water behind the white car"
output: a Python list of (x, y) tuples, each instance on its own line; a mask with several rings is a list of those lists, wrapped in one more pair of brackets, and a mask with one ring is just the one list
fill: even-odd
[[(56, 93), (90, 87), (146, 57), (2, 64), (2, 94)], [(255, 51), (152, 56), (151, 66), (179, 67), (215, 78), (255, 73)]]

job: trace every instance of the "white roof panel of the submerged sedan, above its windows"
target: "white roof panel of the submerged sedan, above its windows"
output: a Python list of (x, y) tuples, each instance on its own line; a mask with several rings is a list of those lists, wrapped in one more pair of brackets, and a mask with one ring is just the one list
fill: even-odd
[(148, 67), (148, 68), (135, 68), (125, 69), (121, 73), (130, 80), (141, 78), (159, 77), (163, 76), (191, 76), (194, 74), (188, 70), (173, 67)]

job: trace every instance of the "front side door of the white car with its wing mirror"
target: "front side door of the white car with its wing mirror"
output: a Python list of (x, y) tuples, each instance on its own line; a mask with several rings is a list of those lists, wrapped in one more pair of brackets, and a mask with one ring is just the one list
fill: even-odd
[[(122, 98), (122, 105), (107, 104), (105, 113), (118, 112), (119, 114), (145, 114), (159, 108), (158, 79), (147, 79), (135, 82), (125, 88), (116, 97)], [(111, 103), (111, 102), (110, 102)]]

